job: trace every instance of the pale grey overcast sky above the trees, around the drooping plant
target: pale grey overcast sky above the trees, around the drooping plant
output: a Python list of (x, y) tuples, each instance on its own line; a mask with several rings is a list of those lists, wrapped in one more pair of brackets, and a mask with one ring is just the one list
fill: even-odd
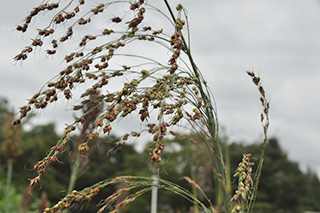
[[(279, 139), (301, 168), (311, 167), (320, 176), (320, 1), (181, 2), (188, 10), (195, 61), (212, 89), (220, 125), (230, 140), (262, 138), (259, 94), (245, 73), (254, 71), (271, 104), (270, 136)], [(44, 60), (44, 54), (33, 54), (22, 65), (12, 60), (30, 39), (13, 30), (34, 6), (12, 0), (0, 8), (0, 96), (16, 110), (63, 68), (52, 58)], [(66, 119), (65, 109), (53, 106), (37, 121), (55, 121), (62, 127), (71, 119)]]

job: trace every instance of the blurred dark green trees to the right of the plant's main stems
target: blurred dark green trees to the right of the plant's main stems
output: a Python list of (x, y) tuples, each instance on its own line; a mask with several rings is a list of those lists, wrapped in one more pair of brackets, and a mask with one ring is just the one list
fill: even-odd
[[(252, 153), (258, 156), (260, 145), (245, 146), (233, 143), (229, 147), (231, 171), (240, 162), (241, 153)], [(308, 209), (305, 201), (317, 203), (312, 193), (307, 192), (310, 186), (297, 163), (288, 159), (277, 139), (271, 139), (265, 153), (264, 167), (259, 185), (255, 211), (257, 212), (302, 212)], [(316, 189), (313, 189), (316, 193)], [(311, 190), (312, 191), (312, 190)], [(319, 210), (312, 208), (312, 210)]]

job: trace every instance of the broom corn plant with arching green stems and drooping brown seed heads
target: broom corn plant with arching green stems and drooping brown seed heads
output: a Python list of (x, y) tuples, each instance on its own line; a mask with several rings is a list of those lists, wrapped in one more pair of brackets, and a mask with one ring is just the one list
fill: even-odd
[[(151, 1), (144, 0), (104, 1), (94, 7), (91, 7), (91, 4), (86, 0), (55, 3), (44, 1), (33, 8), (24, 23), (16, 28), (17, 31), (27, 33), (32, 30), (29, 28), (32, 28), (34, 24), (31, 23), (37, 16), (42, 14), (50, 17), (44, 28), (37, 29), (31, 43), (14, 57), (16, 61), (26, 60), (31, 52), (36, 50), (53, 56), (65, 50), (63, 46), (67, 42), (77, 45), (63, 59), (66, 68), (29, 99), (28, 103), (20, 108), (20, 118), (13, 121), (13, 124), (20, 124), (29, 112), (44, 109), (60, 99), (74, 100), (72, 110), (80, 112), (74, 122), (65, 128), (56, 145), (34, 165), (36, 175), (30, 179), (30, 187), (41, 182), (47, 167), (59, 162), (59, 157), (71, 143), (72, 133), (80, 129), (79, 126), (85, 122), (87, 115), (97, 112), (96, 109), (99, 108), (94, 127), (83, 138), (82, 143), (78, 144), (79, 155), (88, 156), (91, 147), (94, 146), (94, 139), (112, 133), (113, 126), (118, 121), (130, 117), (139, 120), (141, 129), (124, 133), (121, 140), (114, 144), (114, 150), (122, 148), (128, 141), (137, 141), (137, 138), (144, 134), (154, 142), (153, 148), (150, 149), (150, 161), (157, 164), (161, 161), (161, 153), (165, 148), (164, 139), (170, 135), (179, 136), (177, 129), (181, 125), (187, 125), (196, 133), (204, 135), (201, 141), (185, 139), (186, 142), (206, 147), (203, 151), (219, 183), (219, 189), (216, 190), (220, 192), (217, 194), (221, 195), (222, 207), (214, 206), (212, 200), (217, 198), (208, 198), (200, 186), (189, 177), (184, 179), (203, 195), (207, 204), (175, 183), (159, 179), (157, 187), (182, 196), (203, 212), (252, 212), (263, 165), (263, 154), (268, 145), (269, 103), (260, 78), (253, 72), (248, 72), (258, 87), (264, 107), (261, 122), (265, 138), (261, 158), (255, 176), (251, 177), (253, 163), (250, 162), (250, 154), (244, 155), (234, 175), (239, 181), (238, 189), (231, 196), (228, 183), (230, 171), (227, 171), (218, 142), (215, 102), (192, 56), (185, 8), (181, 4), (172, 8), (167, 0), (163, 1), (166, 9), (159, 9), (152, 5)], [(164, 20), (161, 23), (166, 21), (166, 24), (153, 28), (148, 24), (149, 12), (160, 15)], [(119, 14), (110, 15), (114, 13)], [(92, 25), (95, 21), (98, 22), (97, 16), (107, 20), (105, 22), (108, 27), (104, 28), (103, 25), (95, 32), (97, 25)], [(152, 15), (150, 16), (152, 19)], [(153, 48), (153, 45), (162, 48), (164, 54), (151, 54), (150, 51), (143, 50), (143, 47)], [(65, 51), (70, 51), (70, 48)], [(163, 60), (162, 56), (168, 54), (169, 57)], [(113, 82), (116, 82), (116, 89), (112, 86)], [(119, 86), (121, 84), (122, 86)], [(81, 110), (88, 103), (93, 107)], [(60, 212), (71, 208), (75, 202), (89, 201), (104, 187), (126, 183), (126, 187), (106, 196), (100, 202), (101, 207), (98, 210), (118, 212), (150, 191), (153, 180), (149, 177), (120, 176), (98, 182), (80, 191), (69, 188), (69, 194), (57, 204), (46, 208), (44, 212)], [(126, 198), (115, 203), (123, 193), (126, 193)]]

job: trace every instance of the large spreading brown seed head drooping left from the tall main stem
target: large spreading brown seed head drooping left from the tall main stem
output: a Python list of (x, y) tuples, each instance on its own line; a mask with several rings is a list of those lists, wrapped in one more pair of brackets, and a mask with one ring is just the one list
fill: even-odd
[[(83, 4), (84, 1), (80, 1)], [(73, 110), (84, 109), (89, 102), (95, 103), (96, 106), (104, 105), (104, 110), (100, 112), (94, 122), (94, 128), (87, 136), (87, 141), (78, 146), (78, 150), (81, 154), (86, 154), (90, 151), (89, 142), (95, 138), (100, 137), (101, 134), (109, 134), (112, 131), (112, 125), (114, 121), (137, 113), (141, 122), (146, 124), (146, 129), (141, 131), (132, 131), (123, 135), (122, 140), (115, 144), (115, 148), (119, 149), (125, 145), (125, 142), (131, 137), (139, 137), (142, 133), (148, 132), (155, 142), (155, 148), (150, 151), (151, 161), (159, 162), (161, 160), (161, 153), (164, 148), (163, 139), (166, 137), (170, 129), (179, 124), (183, 118), (191, 118), (192, 121), (202, 119), (202, 114), (198, 108), (204, 107), (203, 101), (197, 99), (197, 106), (193, 112), (185, 112), (185, 105), (190, 102), (186, 99), (186, 96), (192, 89), (192, 85), (197, 85), (199, 80), (196, 77), (190, 77), (189, 75), (182, 75), (177, 73), (178, 59), (182, 51), (184, 51), (184, 44), (181, 35), (181, 29), (183, 28), (184, 21), (177, 19), (175, 25), (175, 33), (171, 36), (169, 41), (172, 56), (168, 62), (169, 66), (166, 69), (160, 69), (164, 74), (155, 75), (154, 71), (147, 69), (136, 70), (128, 65), (123, 65), (120, 69), (110, 69), (110, 60), (116, 55), (116, 51), (119, 48), (123, 48), (127, 43), (132, 40), (149, 40), (153, 41), (155, 37), (162, 36), (163, 29), (147, 32), (152, 28), (144, 26), (139, 31), (138, 26), (144, 20), (144, 14), (146, 9), (142, 6), (144, 1), (136, 1), (130, 4), (130, 10), (134, 12), (134, 18), (126, 23), (127, 31), (123, 32), (119, 39), (115, 39), (110, 42), (104, 42), (100, 46), (96, 46), (91, 50), (86, 50), (85, 45), (89, 41), (104, 38), (110, 34), (117, 35), (112, 29), (104, 29), (97, 35), (85, 35), (79, 43), (80, 51), (73, 51), (65, 56), (65, 62), (67, 67), (60, 71), (59, 76), (49, 82), (47, 87), (44, 87), (41, 91), (35, 94), (26, 106), (23, 106), (20, 110), (20, 118), (15, 121), (15, 124), (20, 123), (20, 119), (27, 116), (32, 109), (44, 109), (48, 104), (57, 101), (58, 99), (65, 98), (67, 100), (73, 99), (73, 90), (78, 84), (82, 84), (87, 80), (91, 80), (93, 83), (87, 88), (81, 95), (80, 100), (73, 106)], [(91, 12), (98, 15), (103, 12), (105, 5), (100, 4), (95, 7)], [(75, 13), (79, 12), (79, 7), (75, 8), (72, 12), (65, 12), (58, 14), (54, 19), (54, 24), (66, 22), (73, 18)], [(122, 19), (120, 17), (113, 17), (113, 23), (120, 23)], [(52, 39), (51, 45), (53, 50), (46, 50), (47, 54), (52, 55), (56, 53), (56, 48), (59, 42), (65, 42), (70, 40), (73, 35), (73, 26), (75, 24), (84, 25), (91, 21), (90, 18), (80, 18), (69, 25), (65, 35), (60, 39)], [(136, 32), (140, 32), (136, 35)], [(31, 46), (37, 47), (43, 45), (44, 37), (47, 37), (54, 33), (53, 28), (47, 28), (40, 30), (38, 36), (40, 38), (35, 39)], [(144, 33), (144, 34), (143, 34)], [(16, 56), (16, 60), (25, 59), (26, 53), (32, 51), (32, 47), (26, 47), (20, 55)], [(159, 71), (159, 72), (160, 72)], [(166, 72), (168, 71), (168, 72)], [(123, 86), (116, 92), (103, 93), (105, 86), (108, 85), (110, 80), (125, 76), (125, 82)], [(140, 87), (141, 82), (146, 79), (151, 80), (152, 83), (148, 83), (147, 88)], [(195, 92), (196, 96), (197, 93)], [(91, 100), (91, 95), (95, 95), (95, 99)], [(158, 123), (150, 123), (150, 112), (154, 111)], [(90, 113), (90, 112), (88, 112)], [(64, 145), (69, 140), (69, 134), (76, 129), (77, 124), (83, 124), (85, 120), (85, 114), (82, 114), (74, 124), (67, 126), (61, 140), (54, 146), (48, 155), (41, 161), (39, 161), (34, 169), (38, 171), (38, 176), (30, 180), (30, 185), (39, 183), (41, 176), (45, 173), (46, 166), (52, 162), (58, 161), (58, 156), (63, 153)], [(171, 131), (173, 133), (173, 131)], [(62, 204), (61, 204), (62, 205)], [(62, 205), (64, 206), (64, 204)]]

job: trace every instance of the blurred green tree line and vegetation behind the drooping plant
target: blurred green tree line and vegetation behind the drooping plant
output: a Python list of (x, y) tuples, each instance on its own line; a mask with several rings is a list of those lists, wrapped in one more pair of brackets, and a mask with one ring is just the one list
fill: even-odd
[[(33, 178), (31, 171), (34, 164), (45, 156), (45, 153), (55, 145), (58, 133), (55, 125), (33, 126), (29, 130), (23, 128), (14, 130), (16, 139), (8, 142), (6, 122), (11, 119), (9, 103), (5, 98), (0, 98), (0, 212), (36, 212), (55, 204), (65, 196), (74, 161), (69, 158), (72, 155), (72, 143), (65, 151), (61, 163), (50, 166), (42, 178), (40, 186), (30, 191), (28, 178)], [(22, 125), (23, 127), (23, 125)], [(78, 136), (74, 136), (76, 141)], [(196, 141), (200, 135), (192, 135)], [(16, 140), (13, 142), (13, 140)], [(132, 145), (126, 145), (121, 149), (114, 149), (118, 141), (115, 136), (99, 138), (97, 146), (86, 159), (81, 159), (81, 169), (77, 172), (77, 180), (74, 189), (80, 190), (106, 178), (119, 175), (152, 176), (149, 160), (149, 147), (142, 152), (137, 152)], [(9, 140), (10, 141), (10, 140)], [(253, 159), (260, 154), (260, 144), (230, 142), (227, 138), (221, 138), (224, 147), (227, 165), (230, 171), (235, 171), (244, 153), (251, 153)], [(8, 144), (9, 143), (9, 144)], [(14, 144), (14, 149), (12, 149)], [(159, 176), (179, 185), (193, 189), (183, 176), (191, 177), (205, 191), (208, 197), (214, 197), (215, 180), (212, 179), (212, 169), (208, 165), (206, 157), (190, 141), (183, 137), (176, 137), (164, 142), (165, 152), (162, 162), (158, 166)], [(248, 145), (249, 144), (249, 145)], [(13, 154), (8, 154), (11, 150)], [(10, 166), (9, 161), (12, 161)], [(12, 167), (10, 181), (8, 171)], [(8, 185), (8, 181), (11, 184)], [(237, 181), (232, 178), (230, 183), (233, 189), (237, 187)], [(88, 203), (75, 204), (69, 212), (96, 212), (96, 205), (113, 193), (117, 187), (106, 188)], [(270, 139), (270, 146), (265, 155), (258, 198), (255, 212), (304, 212), (320, 211), (320, 181), (316, 173), (311, 169), (303, 172), (297, 162), (288, 159), (287, 153), (281, 149), (280, 142)], [(196, 191), (194, 193), (197, 193)], [(199, 199), (201, 194), (198, 193)], [(219, 201), (216, 201), (219, 205)], [(123, 212), (150, 212), (151, 193), (146, 193), (129, 204)], [(158, 212), (193, 212), (192, 204), (168, 191), (158, 192)]]

